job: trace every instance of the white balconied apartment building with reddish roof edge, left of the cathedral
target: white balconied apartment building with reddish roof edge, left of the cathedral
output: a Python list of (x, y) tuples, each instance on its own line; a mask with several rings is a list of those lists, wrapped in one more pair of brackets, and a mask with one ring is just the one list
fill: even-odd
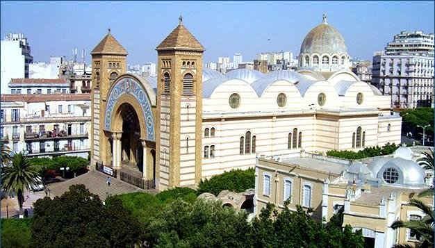
[(28, 156), (88, 158), (89, 107), (90, 94), (2, 94), (1, 140)]

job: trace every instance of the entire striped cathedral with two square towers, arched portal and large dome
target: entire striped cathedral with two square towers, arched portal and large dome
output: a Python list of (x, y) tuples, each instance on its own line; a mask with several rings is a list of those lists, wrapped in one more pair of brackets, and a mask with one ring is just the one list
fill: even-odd
[(261, 155), (400, 143), (391, 96), (350, 71), (326, 16), (302, 42), (297, 72), (203, 68), (205, 49), (182, 20), (156, 51), (156, 78), (126, 74), (110, 31), (91, 52), (92, 165), (141, 188), (195, 185)]

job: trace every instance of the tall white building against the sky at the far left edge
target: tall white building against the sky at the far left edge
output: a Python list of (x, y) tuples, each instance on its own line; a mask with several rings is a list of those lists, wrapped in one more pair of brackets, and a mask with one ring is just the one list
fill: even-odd
[(27, 38), (22, 33), (9, 33), (1, 40), (1, 81), (2, 93), (9, 93), (11, 78), (29, 78), (29, 64), (33, 63)]

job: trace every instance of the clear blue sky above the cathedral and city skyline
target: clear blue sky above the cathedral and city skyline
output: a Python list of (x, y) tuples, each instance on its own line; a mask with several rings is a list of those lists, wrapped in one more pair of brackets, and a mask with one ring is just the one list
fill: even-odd
[(204, 63), (264, 51), (297, 56), (311, 28), (327, 22), (343, 35), (350, 56), (372, 60), (400, 31), (434, 33), (434, 1), (1, 1), (1, 39), (21, 32), (34, 62), (90, 51), (107, 28), (132, 65), (155, 63), (156, 47), (183, 24), (206, 48)]

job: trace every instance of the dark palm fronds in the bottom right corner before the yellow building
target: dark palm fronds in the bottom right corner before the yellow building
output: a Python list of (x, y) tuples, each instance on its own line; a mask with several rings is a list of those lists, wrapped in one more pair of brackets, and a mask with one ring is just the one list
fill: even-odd
[[(434, 245), (434, 211), (430, 206), (427, 206), (425, 203), (418, 199), (411, 199), (409, 201), (409, 205), (420, 208), (423, 213), (425, 213), (425, 217), (421, 220), (396, 220), (391, 224), (392, 229), (398, 228), (407, 228), (411, 229), (413, 233), (416, 233), (420, 243), (418, 247), (433, 247)], [(398, 244), (394, 247), (409, 247), (406, 244)]]

